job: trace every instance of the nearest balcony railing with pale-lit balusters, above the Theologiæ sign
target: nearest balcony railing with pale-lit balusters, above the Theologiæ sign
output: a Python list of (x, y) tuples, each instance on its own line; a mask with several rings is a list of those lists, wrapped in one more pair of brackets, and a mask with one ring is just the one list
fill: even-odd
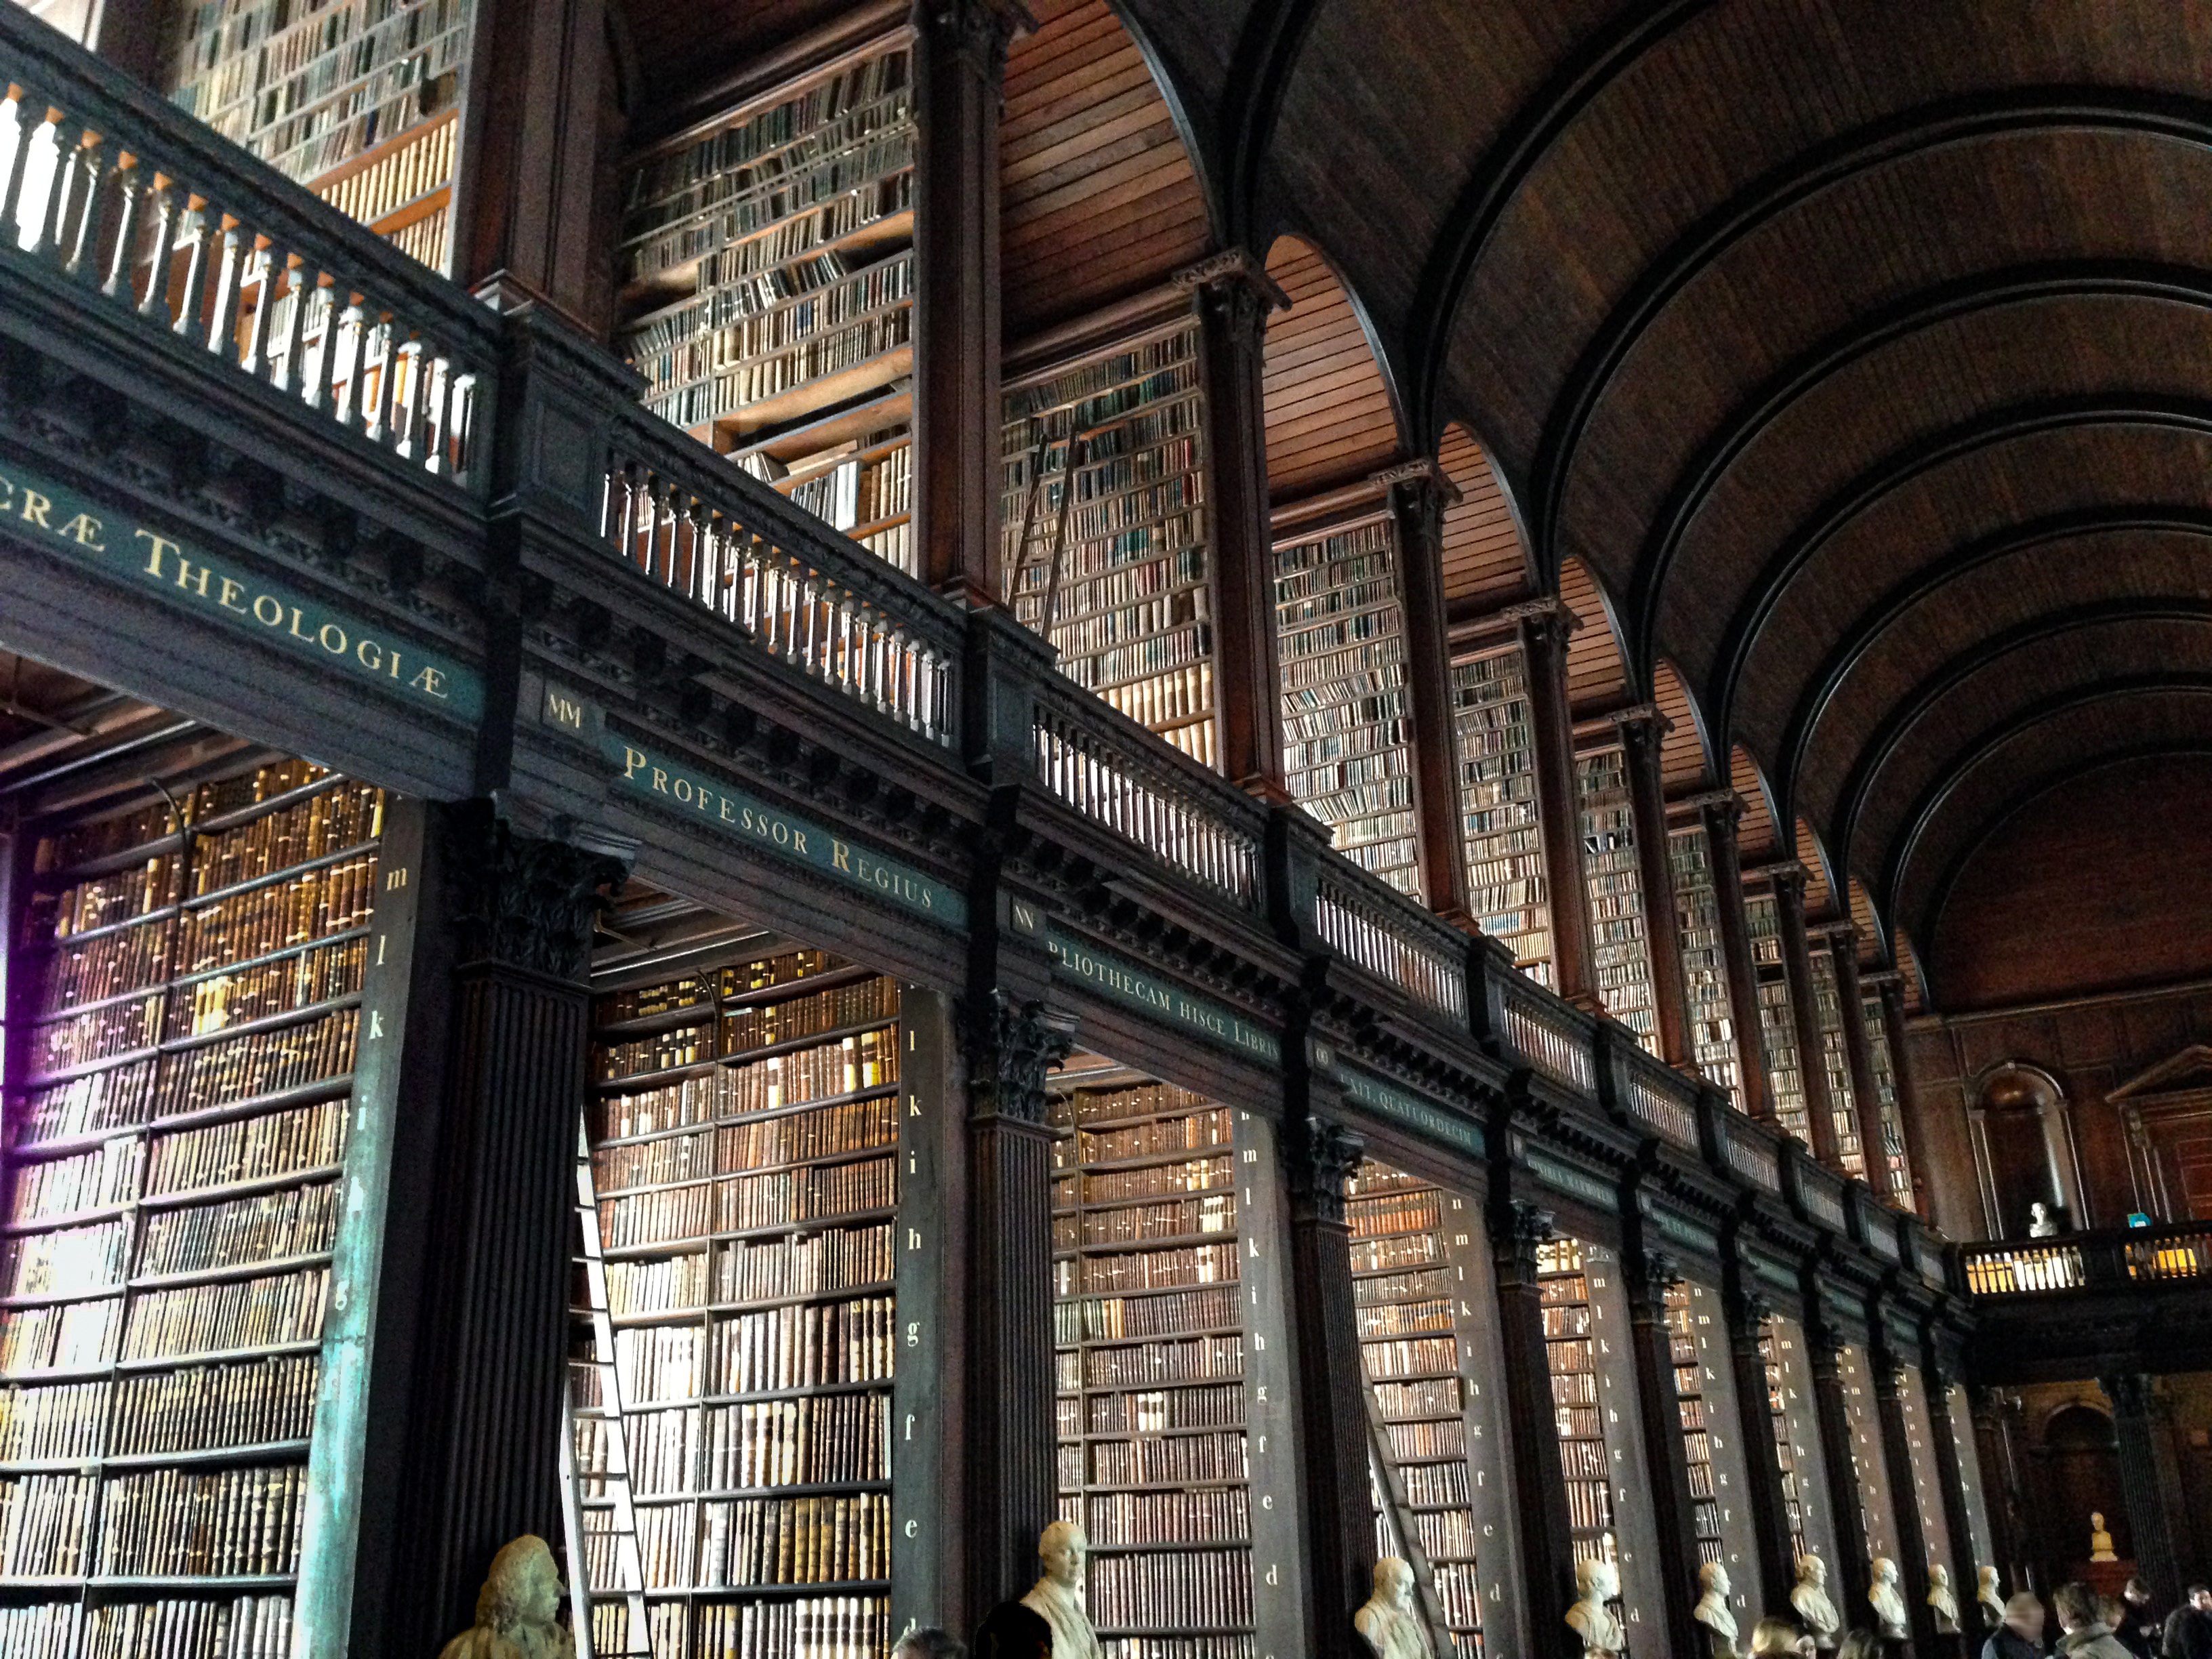
[(9, 283), (484, 491), (491, 312), (20, 7), (0, 84)]

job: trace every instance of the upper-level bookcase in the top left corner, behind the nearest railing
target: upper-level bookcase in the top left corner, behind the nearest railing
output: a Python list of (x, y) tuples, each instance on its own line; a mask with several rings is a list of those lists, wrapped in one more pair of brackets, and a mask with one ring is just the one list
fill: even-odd
[(338, 212), (447, 270), (473, 0), (177, 7), (170, 97)]

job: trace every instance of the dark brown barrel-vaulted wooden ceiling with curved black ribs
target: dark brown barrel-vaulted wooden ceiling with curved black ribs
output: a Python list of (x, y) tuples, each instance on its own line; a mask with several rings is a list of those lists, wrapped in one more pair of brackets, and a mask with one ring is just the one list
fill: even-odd
[(1325, 252), (1885, 918), (2212, 745), (2212, 4), (1121, 9), (1223, 234)]

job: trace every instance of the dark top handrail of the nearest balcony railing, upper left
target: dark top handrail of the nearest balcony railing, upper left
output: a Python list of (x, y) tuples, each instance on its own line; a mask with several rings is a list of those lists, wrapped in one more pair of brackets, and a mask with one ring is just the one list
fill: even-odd
[[(18, 69), (31, 73), (18, 73)], [(431, 321), (440, 330), (467, 336), (469, 345), (482, 352), (498, 349), (500, 319), (469, 290), (440, 276), (414, 254), (400, 252), (367, 226), (294, 184), (261, 157), (217, 135), (144, 82), (88, 53), (22, 7), (0, 9), (0, 82), (7, 80), (29, 84), (49, 102), (58, 102), (55, 95), (66, 93), (73, 100), (69, 113), (119, 148), (157, 164), (179, 159), (190, 168), (204, 168), (210, 177), (221, 177), (223, 186), (234, 192), (221, 204), (226, 210), (243, 206), (270, 219), (292, 221), (288, 228), (294, 230), (303, 250), (405, 292), (411, 305), (434, 312)], [(177, 177), (184, 177), (186, 184), (199, 181), (186, 177), (184, 168), (177, 170)], [(460, 341), (456, 338), (456, 343)]]

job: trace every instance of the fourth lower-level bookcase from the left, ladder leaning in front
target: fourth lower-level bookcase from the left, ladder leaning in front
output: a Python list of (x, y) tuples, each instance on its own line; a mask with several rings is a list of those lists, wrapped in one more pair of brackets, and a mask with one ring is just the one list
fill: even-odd
[(1484, 1610), (1502, 1593), (1493, 1540), (1506, 1480), (1475, 1363), (1489, 1338), (1471, 1312), (1486, 1285), (1482, 1263), (1471, 1261), (1480, 1219), (1460, 1194), (1371, 1159), (1354, 1177), (1345, 1219), (1376, 1493), (1389, 1511), (1378, 1520), (1413, 1566), (1451, 1652), (1480, 1659)]

